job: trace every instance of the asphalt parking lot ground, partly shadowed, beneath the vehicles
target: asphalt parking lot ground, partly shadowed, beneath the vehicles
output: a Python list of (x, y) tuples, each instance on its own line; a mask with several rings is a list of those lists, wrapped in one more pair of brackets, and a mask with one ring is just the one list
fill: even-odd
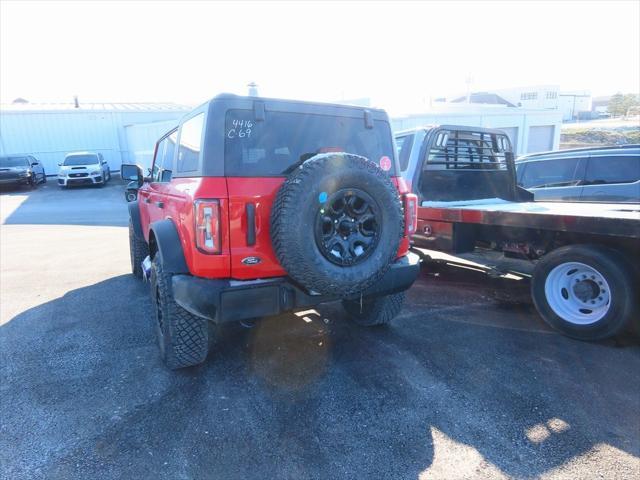
[(0, 195), (2, 478), (640, 474), (637, 339), (565, 338), (476, 272), (424, 269), (387, 328), (330, 304), (166, 370), (122, 189)]

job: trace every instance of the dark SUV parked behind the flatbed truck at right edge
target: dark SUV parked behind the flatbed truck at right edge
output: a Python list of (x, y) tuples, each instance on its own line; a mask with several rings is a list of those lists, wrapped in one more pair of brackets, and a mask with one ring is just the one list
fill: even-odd
[(640, 145), (526, 155), (516, 170), (536, 200), (640, 203)]

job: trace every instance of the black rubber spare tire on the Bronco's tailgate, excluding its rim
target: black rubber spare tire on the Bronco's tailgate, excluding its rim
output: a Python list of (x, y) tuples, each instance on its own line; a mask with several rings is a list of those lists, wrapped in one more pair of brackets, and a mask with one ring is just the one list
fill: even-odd
[[(360, 263), (336, 265), (314, 237), (317, 215), (335, 192), (358, 189), (375, 202), (378, 240)], [(347, 153), (320, 154), (289, 175), (271, 210), (271, 240), (289, 276), (310, 291), (340, 298), (376, 283), (396, 258), (404, 232), (401, 199), (389, 175), (377, 164)]]

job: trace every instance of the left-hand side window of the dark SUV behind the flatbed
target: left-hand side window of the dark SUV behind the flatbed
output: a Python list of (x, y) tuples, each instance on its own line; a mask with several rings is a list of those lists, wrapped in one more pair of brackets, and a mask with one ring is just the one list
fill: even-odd
[(581, 158), (540, 160), (523, 164), (524, 174), (520, 180), (524, 188), (570, 187), (582, 180)]

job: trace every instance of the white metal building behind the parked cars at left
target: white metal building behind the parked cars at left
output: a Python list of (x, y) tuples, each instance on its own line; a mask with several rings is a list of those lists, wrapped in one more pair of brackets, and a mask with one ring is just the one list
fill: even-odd
[[(172, 103), (16, 103), (0, 106), (0, 155), (28, 153), (40, 160), (48, 175), (74, 151), (100, 152), (111, 170), (140, 158), (176, 125), (189, 107)], [(160, 122), (148, 144), (133, 142), (129, 125)], [(143, 145), (144, 144), (144, 145)]]

